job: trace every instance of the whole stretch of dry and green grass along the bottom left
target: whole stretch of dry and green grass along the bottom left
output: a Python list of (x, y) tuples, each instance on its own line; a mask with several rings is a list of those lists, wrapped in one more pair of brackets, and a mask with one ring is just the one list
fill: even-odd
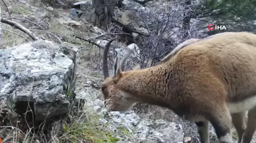
[[(6, 112), (3, 108), (1, 109), (1, 113), (3, 111)], [(8, 126), (1, 126), (2, 143), (85, 143), (86, 141), (87, 143), (116, 143), (119, 140), (113, 132), (106, 130), (107, 124), (99, 121), (103, 116), (99, 115), (98, 112), (94, 112), (91, 107), (72, 111), (69, 115), (69, 122), (64, 121), (63, 123), (62, 134), (57, 137), (57, 132), (53, 130), (50, 138), (47, 138), (43, 132), (32, 133), (32, 128), (26, 132), (20, 130), (16, 125), (12, 124), (19, 123), (17, 118), (13, 118), (17, 116), (12, 108), (7, 109), (7, 116), (5, 117), (12, 121)], [(47, 139), (48, 141), (46, 142)], [(36, 140), (39, 142), (36, 142)]]

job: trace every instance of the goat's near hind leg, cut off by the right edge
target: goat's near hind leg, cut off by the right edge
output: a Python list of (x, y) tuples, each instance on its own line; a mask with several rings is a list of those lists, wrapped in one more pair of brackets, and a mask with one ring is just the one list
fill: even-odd
[(256, 107), (248, 111), (247, 127), (244, 131), (242, 143), (250, 143), (256, 130)]

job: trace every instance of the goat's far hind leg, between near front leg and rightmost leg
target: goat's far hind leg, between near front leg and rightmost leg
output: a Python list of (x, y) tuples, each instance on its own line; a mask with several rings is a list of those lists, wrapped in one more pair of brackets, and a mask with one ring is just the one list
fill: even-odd
[(232, 123), (236, 128), (236, 132), (239, 137), (238, 143), (241, 143), (242, 136), (247, 123), (247, 112), (233, 113), (231, 114), (231, 117), (232, 117)]

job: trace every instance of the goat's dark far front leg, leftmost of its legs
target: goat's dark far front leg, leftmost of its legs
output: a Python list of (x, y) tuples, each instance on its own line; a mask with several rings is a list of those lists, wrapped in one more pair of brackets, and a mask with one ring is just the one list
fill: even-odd
[(195, 122), (198, 128), (198, 134), (200, 136), (201, 143), (209, 143), (209, 122), (198, 121)]

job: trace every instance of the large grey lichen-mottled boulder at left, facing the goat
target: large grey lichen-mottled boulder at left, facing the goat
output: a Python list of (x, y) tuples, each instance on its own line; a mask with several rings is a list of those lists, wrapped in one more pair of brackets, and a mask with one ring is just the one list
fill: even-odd
[(74, 50), (44, 40), (0, 50), (0, 101), (12, 101), (19, 115), (32, 109), (34, 121), (65, 115), (75, 56)]

